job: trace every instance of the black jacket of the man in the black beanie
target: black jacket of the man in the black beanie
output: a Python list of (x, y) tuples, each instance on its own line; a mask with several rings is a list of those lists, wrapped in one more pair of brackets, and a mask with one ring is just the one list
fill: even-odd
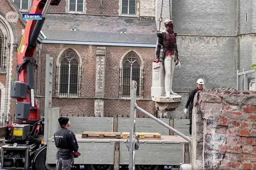
[[(70, 159), (73, 157), (72, 152), (78, 151), (77, 139), (75, 134), (67, 128), (61, 128), (54, 134), (55, 146), (58, 148), (56, 153), (57, 158)], [(65, 151), (63, 151), (63, 149)]]

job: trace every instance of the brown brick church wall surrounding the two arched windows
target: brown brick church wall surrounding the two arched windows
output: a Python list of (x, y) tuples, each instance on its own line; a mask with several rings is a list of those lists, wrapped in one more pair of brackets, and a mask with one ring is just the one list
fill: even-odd
[[(72, 47), (76, 50), (82, 59), (82, 81), (81, 81), (81, 97), (77, 98), (55, 98), (55, 66), (57, 57), (63, 50)], [(154, 102), (151, 100), (151, 66), (154, 59), (154, 48), (138, 48), (138, 47), (106, 47), (106, 68), (105, 68), (105, 101), (104, 115), (112, 114), (113, 116), (123, 116), (129, 113), (130, 101), (119, 99), (119, 67), (122, 56), (129, 50), (138, 52), (144, 63), (144, 99), (138, 100), (140, 107), (147, 110), (149, 113), (154, 113)], [(44, 96), (45, 93), (45, 61), (46, 54), (53, 57), (53, 107), (60, 107), (61, 114), (71, 116), (86, 114), (87, 116), (94, 115), (94, 95), (95, 95), (95, 77), (96, 77), (96, 46), (93, 45), (51, 45), (42, 44), (42, 51), (37, 74), (38, 79), (38, 94)], [(44, 113), (44, 98), (38, 97), (40, 113)], [(77, 103), (77, 104), (74, 104)], [(87, 107), (88, 106), (88, 107)], [(89, 108), (92, 107), (92, 108)], [(142, 113), (137, 114), (138, 117), (143, 117)]]

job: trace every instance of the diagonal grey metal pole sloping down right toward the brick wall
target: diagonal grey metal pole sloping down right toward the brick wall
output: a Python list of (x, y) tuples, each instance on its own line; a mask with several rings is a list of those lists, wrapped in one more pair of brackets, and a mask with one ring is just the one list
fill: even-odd
[(188, 136), (180, 133), (179, 131), (177, 131), (176, 129), (172, 128), (171, 126), (167, 125), (166, 123), (164, 123), (163, 121), (157, 119), (155, 116), (153, 116), (152, 114), (148, 113), (147, 111), (143, 110), (142, 108), (140, 108), (136, 103), (135, 103), (135, 108), (138, 109), (138, 111), (140, 111), (143, 114), (146, 114), (148, 117), (152, 118), (153, 120), (157, 121), (158, 123), (160, 123), (161, 125), (163, 125), (164, 127), (168, 128), (169, 130), (173, 131), (174, 133), (176, 133), (177, 135), (181, 136), (182, 138), (184, 138), (185, 140), (189, 141), (189, 143), (191, 142), (191, 139), (189, 139)]

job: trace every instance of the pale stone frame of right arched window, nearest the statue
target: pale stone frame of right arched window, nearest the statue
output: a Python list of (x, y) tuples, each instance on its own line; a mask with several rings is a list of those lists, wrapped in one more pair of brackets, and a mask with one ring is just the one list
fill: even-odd
[[(128, 50), (125, 52), (125, 54), (123, 54), (123, 56), (121, 57), (120, 60), (120, 71), (119, 71), (119, 98), (123, 98), (123, 99), (130, 99), (130, 95), (123, 95), (123, 68), (124, 68), (124, 63), (126, 61), (126, 58), (129, 56), (129, 54), (135, 54), (135, 56), (137, 57), (137, 61), (140, 64), (140, 83), (137, 84), (137, 87), (139, 86), (141, 89), (139, 89), (139, 95), (136, 94), (136, 98), (137, 99), (142, 99), (143, 98), (143, 94), (144, 94), (144, 89), (143, 89), (143, 83), (144, 83), (144, 73), (142, 72), (142, 70), (144, 69), (144, 62), (142, 59), (142, 56), (136, 51), (136, 50)], [(131, 81), (130, 81), (131, 84)]]

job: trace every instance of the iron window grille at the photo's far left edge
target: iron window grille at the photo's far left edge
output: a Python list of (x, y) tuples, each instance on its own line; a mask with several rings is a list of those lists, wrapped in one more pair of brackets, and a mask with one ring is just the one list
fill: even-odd
[(0, 35), (0, 70), (5, 71), (5, 60), (7, 57), (7, 37), (6, 35)]

